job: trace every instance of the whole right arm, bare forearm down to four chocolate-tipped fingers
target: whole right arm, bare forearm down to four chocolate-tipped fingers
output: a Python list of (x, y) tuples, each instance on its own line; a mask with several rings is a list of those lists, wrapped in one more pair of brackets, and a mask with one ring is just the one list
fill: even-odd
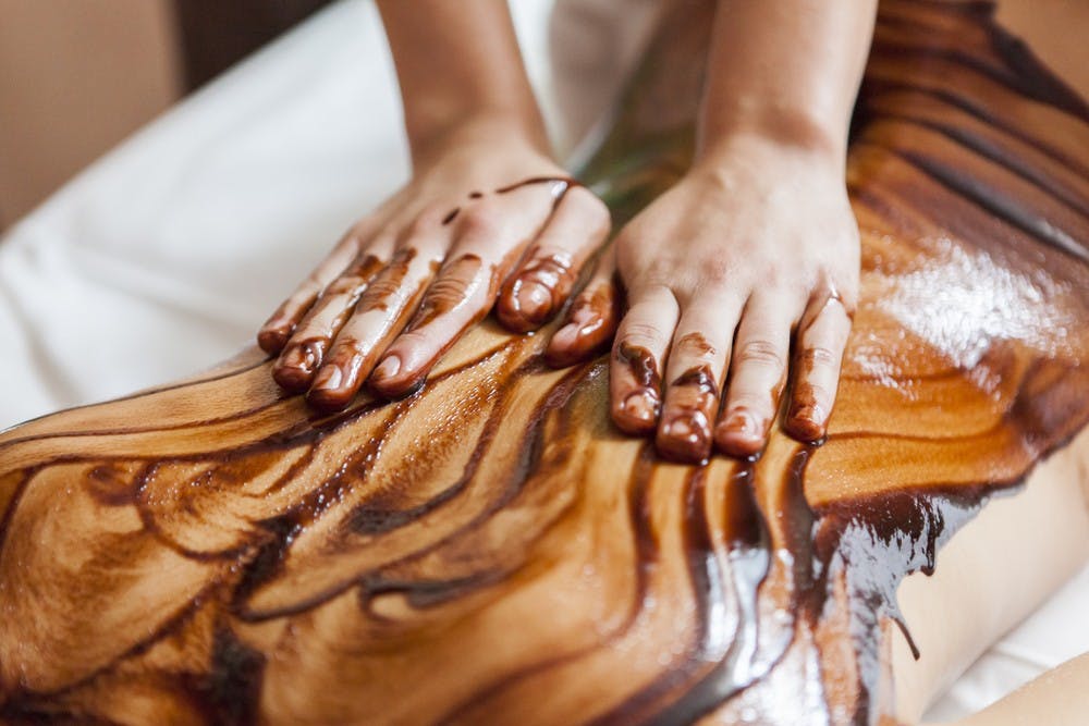
[[(787, 381), (786, 430), (824, 436), (858, 295), (844, 160), (876, 5), (715, 3), (694, 165), (614, 244), (612, 418), (671, 458), (758, 455)], [(577, 303), (553, 348), (592, 319)]]

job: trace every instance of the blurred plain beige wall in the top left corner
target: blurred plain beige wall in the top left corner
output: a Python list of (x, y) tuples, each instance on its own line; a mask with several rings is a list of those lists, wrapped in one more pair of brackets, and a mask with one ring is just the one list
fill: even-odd
[(172, 0), (0, 0), (0, 229), (180, 95)]

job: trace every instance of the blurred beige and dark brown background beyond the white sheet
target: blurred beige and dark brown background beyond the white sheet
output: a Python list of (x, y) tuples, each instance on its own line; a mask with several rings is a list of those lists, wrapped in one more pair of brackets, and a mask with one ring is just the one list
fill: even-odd
[(0, 231), (331, 0), (0, 0)]

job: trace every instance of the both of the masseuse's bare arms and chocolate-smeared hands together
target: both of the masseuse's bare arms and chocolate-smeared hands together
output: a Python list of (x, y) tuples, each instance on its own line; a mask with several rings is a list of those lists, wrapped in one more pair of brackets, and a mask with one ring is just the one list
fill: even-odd
[[(824, 436), (858, 293), (844, 164), (874, 5), (720, 0), (696, 160), (599, 256), (550, 342), (548, 359), (570, 365), (615, 333), (612, 418), (664, 456), (758, 456), (787, 389), (786, 430)], [(497, 193), (564, 176), (505, 2), (379, 7), (414, 179), (258, 335), (276, 380), (322, 408), (365, 382), (412, 392), (493, 306), (512, 331), (537, 329), (609, 234), (583, 187)]]

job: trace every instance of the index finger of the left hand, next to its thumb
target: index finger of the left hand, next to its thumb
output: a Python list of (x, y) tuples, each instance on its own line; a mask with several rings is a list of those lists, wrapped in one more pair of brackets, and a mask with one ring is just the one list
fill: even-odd
[(371, 374), (376, 392), (403, 396), (421, 385), (461, 334), (488, 315), (500, 281), (548, 219), (551, 199), (539, 201), (478, 202), (458, 217), (458, 236), (446, 261), (424, 293), (408, 328)]

